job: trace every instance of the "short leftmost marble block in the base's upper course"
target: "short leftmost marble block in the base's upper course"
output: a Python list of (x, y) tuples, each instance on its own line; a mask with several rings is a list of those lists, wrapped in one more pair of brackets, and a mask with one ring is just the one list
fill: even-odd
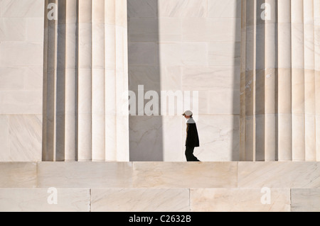
[(1, 162), (0, 188), (36, 188), (37, 165), (33, 162)]

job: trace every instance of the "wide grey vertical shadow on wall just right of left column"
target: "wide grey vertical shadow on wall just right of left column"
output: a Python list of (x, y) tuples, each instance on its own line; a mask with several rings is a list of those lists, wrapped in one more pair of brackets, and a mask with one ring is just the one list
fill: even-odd
[[(129, 91), (134, 91), (137, 107), (136, 115), (129, 115), (129, 159), (131, 162), (161, 162), (164, 161), (164, 150), (158, 0), (128, 0), (127, 12)], [(143, 86), (143, 93), (139, 86)], [(153, 100), (144, 100), (147, 91), (159, 94), (159, 115), (142, 113), (146, 103)], [(143, 106), (139, 106), (142, 101)]]

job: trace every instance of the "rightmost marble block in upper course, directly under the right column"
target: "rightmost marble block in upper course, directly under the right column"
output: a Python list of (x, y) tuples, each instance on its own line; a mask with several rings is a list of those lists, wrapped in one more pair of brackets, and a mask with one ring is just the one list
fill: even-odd
[(319, 188), (319, 162), (239, 162), (240, 188)]

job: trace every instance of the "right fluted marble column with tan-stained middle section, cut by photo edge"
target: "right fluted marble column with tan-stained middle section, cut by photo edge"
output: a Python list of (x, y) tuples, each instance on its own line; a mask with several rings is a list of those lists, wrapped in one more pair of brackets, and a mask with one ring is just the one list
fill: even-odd
[(242, 1), (242, 160), (319, 161), (319, 6)]

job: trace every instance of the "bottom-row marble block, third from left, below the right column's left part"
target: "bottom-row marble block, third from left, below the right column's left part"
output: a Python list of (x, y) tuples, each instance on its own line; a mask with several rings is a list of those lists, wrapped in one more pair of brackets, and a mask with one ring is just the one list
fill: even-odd
[[(290, 189), (273, 188), (270, 193), (254, 188), (191, 189), (193, 212), (289, 212)], [(267, 197), (269, 196), (269, 197)], [(270, 199), (269, 199), (270, 198)]]

